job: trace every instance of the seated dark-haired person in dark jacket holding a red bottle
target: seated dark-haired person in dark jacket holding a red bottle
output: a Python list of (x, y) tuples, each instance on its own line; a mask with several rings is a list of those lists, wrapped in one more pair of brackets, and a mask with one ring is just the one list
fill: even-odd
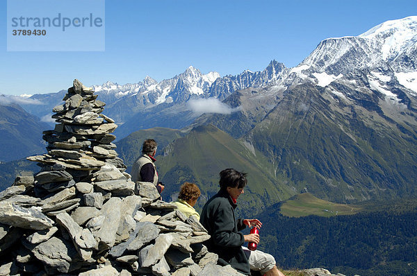
[(211, 238), (204, 244), (208, 251), (219, 256), (218, 264), (230, 264), (240, 273), (250, 275), (250, 270), (258, 270), (267, 276), (284, 276), (275, 266), (272, 255), (259, 250), (250, 251), (242, 245), (245, 242), (259, 243), (259, 234), (239, 232), (249, 227), (261, 227), (257, 219), (239, 219), (236, 221), (234, 209), (237, 199), (245, 187), (246, 173), (235, 169), (220, 172), (220, 191), (210, 198), (203, 207), (200, 223), (206, 228)]

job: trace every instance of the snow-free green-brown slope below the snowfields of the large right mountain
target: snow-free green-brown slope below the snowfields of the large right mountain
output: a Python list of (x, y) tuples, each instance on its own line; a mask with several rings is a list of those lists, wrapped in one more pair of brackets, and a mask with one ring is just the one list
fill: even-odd
[(297, 191), (336, 202), (416, 195), (417, 127), (411, 111), (393, 116), (395, 106), (379, 107), (376, 95), (371, 102), (361, 100), (363, 95), (335, 101), (331, 94), (308, 83), (288, 88), (245, 140)]

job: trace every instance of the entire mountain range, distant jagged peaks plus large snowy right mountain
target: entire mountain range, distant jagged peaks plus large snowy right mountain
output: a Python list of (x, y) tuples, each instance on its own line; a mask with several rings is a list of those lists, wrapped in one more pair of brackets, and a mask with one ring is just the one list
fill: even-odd
[[(417, 17), (407, 17), (323, 40), (294, 68), (273, 60), (263, 71), (220, 77), (189, 67), (159, 83), (147, 77), (94, 89), (120, 125), (119, 139), (155, 126), (187, 132), (211, 124), (264, 156), (272, 182), (293, 194), (338, 202), (415, 194), (416, 26)], [(58, 94), (31, 97), (49, 107), (24, 107), (45, 117)]]

